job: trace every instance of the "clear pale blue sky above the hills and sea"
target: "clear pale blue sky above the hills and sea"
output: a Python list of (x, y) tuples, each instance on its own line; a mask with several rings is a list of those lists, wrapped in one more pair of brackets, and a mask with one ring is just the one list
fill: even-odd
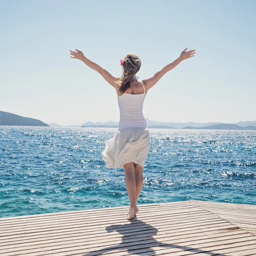
[(256, 120), (256, 1), (0, 2), (0, 110), (81, 125), (119, 121), (115, 89), (83, 62), (81, 50), (114, 76), (128, 52), (139, 80), (194, 57), (148, 90), (144, 116), (160, 122)]

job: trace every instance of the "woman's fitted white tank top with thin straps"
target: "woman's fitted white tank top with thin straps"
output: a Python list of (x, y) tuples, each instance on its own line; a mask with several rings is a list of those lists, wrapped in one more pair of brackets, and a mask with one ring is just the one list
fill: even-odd
[(120, 121), (118, 129), (127, 127), (148, 128), (146, 119), (143, 116), (143, 102), (146, 96), (145, 87), (141, 81), (144, 93), (131, 94), (123, 93), (117, 97), (120, 111)]

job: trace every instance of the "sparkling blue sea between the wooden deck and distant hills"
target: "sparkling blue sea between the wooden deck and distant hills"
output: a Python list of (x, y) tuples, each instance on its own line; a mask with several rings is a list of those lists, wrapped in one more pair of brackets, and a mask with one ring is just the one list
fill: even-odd
[[(1, 126), (0, 217), (128, 206), (123, 168), (101, 155), (116, 131)], [(256, 204), (256, 131), (149, 131), (138, 204)]]

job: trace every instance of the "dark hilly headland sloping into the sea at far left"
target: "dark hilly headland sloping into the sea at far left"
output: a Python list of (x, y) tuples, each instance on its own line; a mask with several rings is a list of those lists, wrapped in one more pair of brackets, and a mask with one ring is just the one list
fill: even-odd
[(18, 116), (4, 111), (0, 111), (0, 125), (49, 126), (38, 119)]

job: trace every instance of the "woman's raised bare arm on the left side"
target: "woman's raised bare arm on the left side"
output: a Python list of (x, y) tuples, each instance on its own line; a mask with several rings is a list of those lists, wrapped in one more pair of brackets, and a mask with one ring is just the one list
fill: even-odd
[(111, 73), (109, 73), (107, 70), (103, 69), (101, 66), (99, 66), (95, 62), (90, 61), (89, 59), (84, 57), (84, 54), (81, 51), (79, 51), (78, 49), (76, 49), (76, 51), (77, 52), (73, 52), (70, 50), (70, 54), (74, 56), (74, 57), (70, 56), (70, 58), (76, 58), (78, 60), (83, 61), (88, 67), (99, 72), (109, 84), (111, 84), (113, 87), (116, 87), (116, 84), (115, 84), (116, 78), (114, 76), (112, 76)]

